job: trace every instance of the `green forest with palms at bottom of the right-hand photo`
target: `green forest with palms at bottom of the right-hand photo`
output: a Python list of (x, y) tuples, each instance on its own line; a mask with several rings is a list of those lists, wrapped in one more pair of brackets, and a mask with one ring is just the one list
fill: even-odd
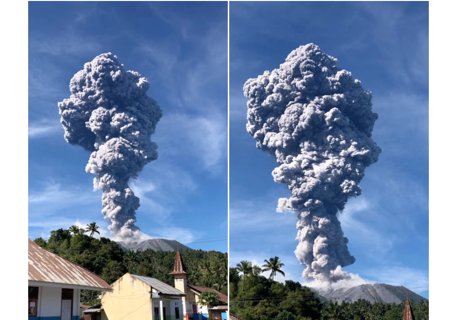
[[(405, 302), (382, 303), (358, 300), (353, 303), (322, 301), (298, 282), (274, 281), (284, 276), (278, 257), (265, 265), (241, 261), (229, 269), (230, 313), (242, 320), (401, 320)], [(261, 275), (268, 271), (269, 278)], [(416, 320), (428, 320), (428, 301), (411, 301)]]

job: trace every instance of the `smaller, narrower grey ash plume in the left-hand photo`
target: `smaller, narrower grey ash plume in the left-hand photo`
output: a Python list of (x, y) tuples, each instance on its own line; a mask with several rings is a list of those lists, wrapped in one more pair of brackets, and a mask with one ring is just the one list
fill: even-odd
[(92, 152), (85, 171), (96, 175), (102, 213), (118, 239), (139, 236), (139, 199), (127, 182), (158, 156), (151, 134), (162, 110), (146, 95), (148, 89), (146, 78), (125, 71), (116, 55), (103, 53), (73, 76), (70, 97), (58, 103), (65, 140)]

